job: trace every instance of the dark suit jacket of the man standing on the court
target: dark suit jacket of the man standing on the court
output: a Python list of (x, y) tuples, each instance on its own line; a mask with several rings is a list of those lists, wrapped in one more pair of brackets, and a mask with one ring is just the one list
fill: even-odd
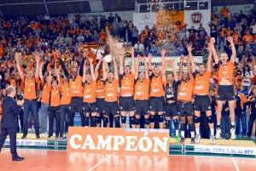
[(7, 96), (3, 99), (2, 111), (1, 128), (17, 128), (18, 105), (12, 97)]

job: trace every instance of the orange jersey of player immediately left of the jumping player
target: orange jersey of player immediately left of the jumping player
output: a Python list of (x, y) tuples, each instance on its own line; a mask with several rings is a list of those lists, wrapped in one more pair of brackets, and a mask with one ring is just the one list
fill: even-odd
[(211, 78), (211, 71), (206, 71), (202, 76), (197, 72), (195, 76), (194, 94), (208, 94), (209, 84)]

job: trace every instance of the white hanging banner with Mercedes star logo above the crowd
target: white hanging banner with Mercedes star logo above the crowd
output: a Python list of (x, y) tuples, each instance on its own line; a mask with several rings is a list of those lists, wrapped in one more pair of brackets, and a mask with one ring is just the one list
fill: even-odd
[(134, 13), (133, 14), (133, 25), (137, 26), (139, 33), (148, 26), (151, 29), (156, 24), (155, 13)]

